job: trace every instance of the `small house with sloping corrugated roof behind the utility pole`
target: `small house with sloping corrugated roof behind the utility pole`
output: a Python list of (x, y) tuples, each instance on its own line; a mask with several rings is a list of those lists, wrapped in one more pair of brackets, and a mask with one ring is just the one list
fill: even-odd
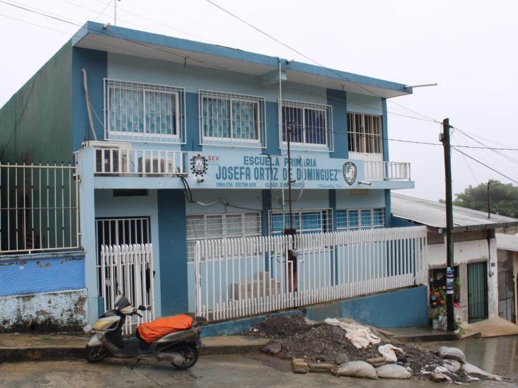
[[(447, 268), (446, 207), (426, 199), (393, 193), (393, 225), (426, 225), (430, 288), (442, 287)], [(515, 218), (454, 206), (454, 271), (460, 281), (459, 314), (463, 322), (499, 315), (500, 255), (495, 230), (518, 225)], [(430, 302), (432, 302), (430, 300)]]

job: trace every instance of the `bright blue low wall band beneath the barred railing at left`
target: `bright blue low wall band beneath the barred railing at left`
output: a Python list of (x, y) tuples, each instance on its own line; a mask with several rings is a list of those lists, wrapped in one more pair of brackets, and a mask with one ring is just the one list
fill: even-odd
[(27, 255), (0, 261), (0, 296), (79, 288), (84, 288), (84, 254)]

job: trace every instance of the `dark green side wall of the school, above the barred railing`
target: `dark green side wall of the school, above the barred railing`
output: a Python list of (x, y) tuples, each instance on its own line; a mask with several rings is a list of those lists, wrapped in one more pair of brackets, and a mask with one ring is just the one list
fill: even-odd
[(2, 163), (71, 161), (71, 41), (0, 108)]

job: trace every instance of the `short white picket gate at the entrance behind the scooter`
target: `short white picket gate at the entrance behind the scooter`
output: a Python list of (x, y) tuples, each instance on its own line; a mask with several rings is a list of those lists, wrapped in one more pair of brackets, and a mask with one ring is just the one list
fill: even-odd
[(153, 247), (151, 244), (102, 245), (98, 276), (104, 310), (111, 310), (117, 295), (125, 295), (129, 302), (138, 307), (142, 318), (127, 317), (123, 332), (130, 334), (132, 326), (151, 322), (155, 316), (153, 292)]

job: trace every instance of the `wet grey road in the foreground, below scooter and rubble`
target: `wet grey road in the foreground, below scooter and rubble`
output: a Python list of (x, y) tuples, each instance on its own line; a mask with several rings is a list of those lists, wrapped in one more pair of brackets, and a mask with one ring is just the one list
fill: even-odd
[[(432, 349), (442, 343), (425, 343)], [(447, 343), (466, 352), (468, 362), (514, 381), (481, 382), (473, 387), (517, 387), (518, 337)], [(363, 380), (323, 373), (294, 375), (289, 363), (261, 354), (202, 356), (190, 370), (166, 363), (82, 360), (0, 364), (0, 387), (437, 387), (418, 380)]]

